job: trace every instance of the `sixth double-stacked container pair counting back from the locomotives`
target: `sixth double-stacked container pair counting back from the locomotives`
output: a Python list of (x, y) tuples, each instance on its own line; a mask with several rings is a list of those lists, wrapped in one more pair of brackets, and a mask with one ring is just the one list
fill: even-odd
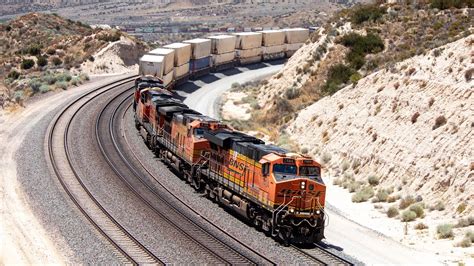
[(283, 30), (264, 30), (262, 33), (263, 60), (273, 60), (285, 57), (286, 33)]

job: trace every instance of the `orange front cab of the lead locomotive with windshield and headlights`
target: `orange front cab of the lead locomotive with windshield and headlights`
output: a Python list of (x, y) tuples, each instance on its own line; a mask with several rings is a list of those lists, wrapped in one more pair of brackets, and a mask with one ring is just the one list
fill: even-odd
[(326, 186), (321, 165), (295, 153), (270, 153), (262, 157), (262, 176), (270, 179), (269, 198), (274, 203), (273, 222), (285, 224), (278, 234), (295, 243), (320, 241), (324, 235)]

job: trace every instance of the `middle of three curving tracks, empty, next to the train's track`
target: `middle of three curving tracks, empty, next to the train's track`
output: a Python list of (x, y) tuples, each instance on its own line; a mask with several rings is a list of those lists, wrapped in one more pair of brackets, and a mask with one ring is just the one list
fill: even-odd
[[(130, 92), (124, 91), (104, 106), (96, 121), (96, 138), (106, 161), (129, 186), (130, 190), (169, 225), (175, 227), (182, 235), (200, 246), (204, 252), (207, 252), (210, 255), (212, 264), (274, 264), (264, 255), (245, 246), (238, 239), (231, 237), (227, 233), (226, 235), (231, 237), (235, 243), (229, 244), (220, 237), (210, 233), (209, 229), (195, 221), (197, 217), (202, 217), (201, 215), (197, 212), (194, 212), (197, 215), (196, 217), (187, 215), (185, 211), (176, 206), (176, 202), (170, 202), (161, 193), (156, 192), (156, 189), (146, 182), (143, 174), (130, 164), (117, 142), (120, 136), (117, 136), (114, 130), (116, 128), (115, 121), (118, 118), (118, 110), (129, 100)], [(116, 107), (112, 107), (115, 102), (119, 102), (119, 104)], [(100, 134), (105, 132), (105, 125), (108, 125), (108, 134)], [(110, 147), (115, 149), (110, 150)], [(130, 177), (134, 177), (134, 179), (130, 181)], [(139, 186), (143, 187), (143, 189), (138, 189), (136, 184), (132, 184), (136, 180), (140, 182)], [(167, 192), (171, 193), (169, 190)], [(175, 196), (173, 195), (173, 197)], [(180, 202), (182, 201), (180, 200)], [(221, 230), (221, 232), (225, 231)], [(236, 247), (236, 243), (240, 246)]]

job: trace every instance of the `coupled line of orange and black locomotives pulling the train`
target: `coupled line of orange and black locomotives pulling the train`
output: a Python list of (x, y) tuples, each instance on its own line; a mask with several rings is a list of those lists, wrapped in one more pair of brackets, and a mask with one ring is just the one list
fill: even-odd
[(161, 89), (136, 82), (135, 126), (196, 190), (285, 244), (324, 237), (326, 187), (319, 163), (238, 132)]

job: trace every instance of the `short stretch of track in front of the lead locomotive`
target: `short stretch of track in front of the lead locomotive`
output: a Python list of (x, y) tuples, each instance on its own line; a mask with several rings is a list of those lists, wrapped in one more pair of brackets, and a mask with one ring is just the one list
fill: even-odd
[(303, 258), (303, 264), (318, 264), (318, 265), (354, 265), (352, 262), (341, 258), (319, 245), (315, 245), (315, 248), (311, 250), (311, 253), (295, 246), (291, 245), (291, 248), (299, 253)]

